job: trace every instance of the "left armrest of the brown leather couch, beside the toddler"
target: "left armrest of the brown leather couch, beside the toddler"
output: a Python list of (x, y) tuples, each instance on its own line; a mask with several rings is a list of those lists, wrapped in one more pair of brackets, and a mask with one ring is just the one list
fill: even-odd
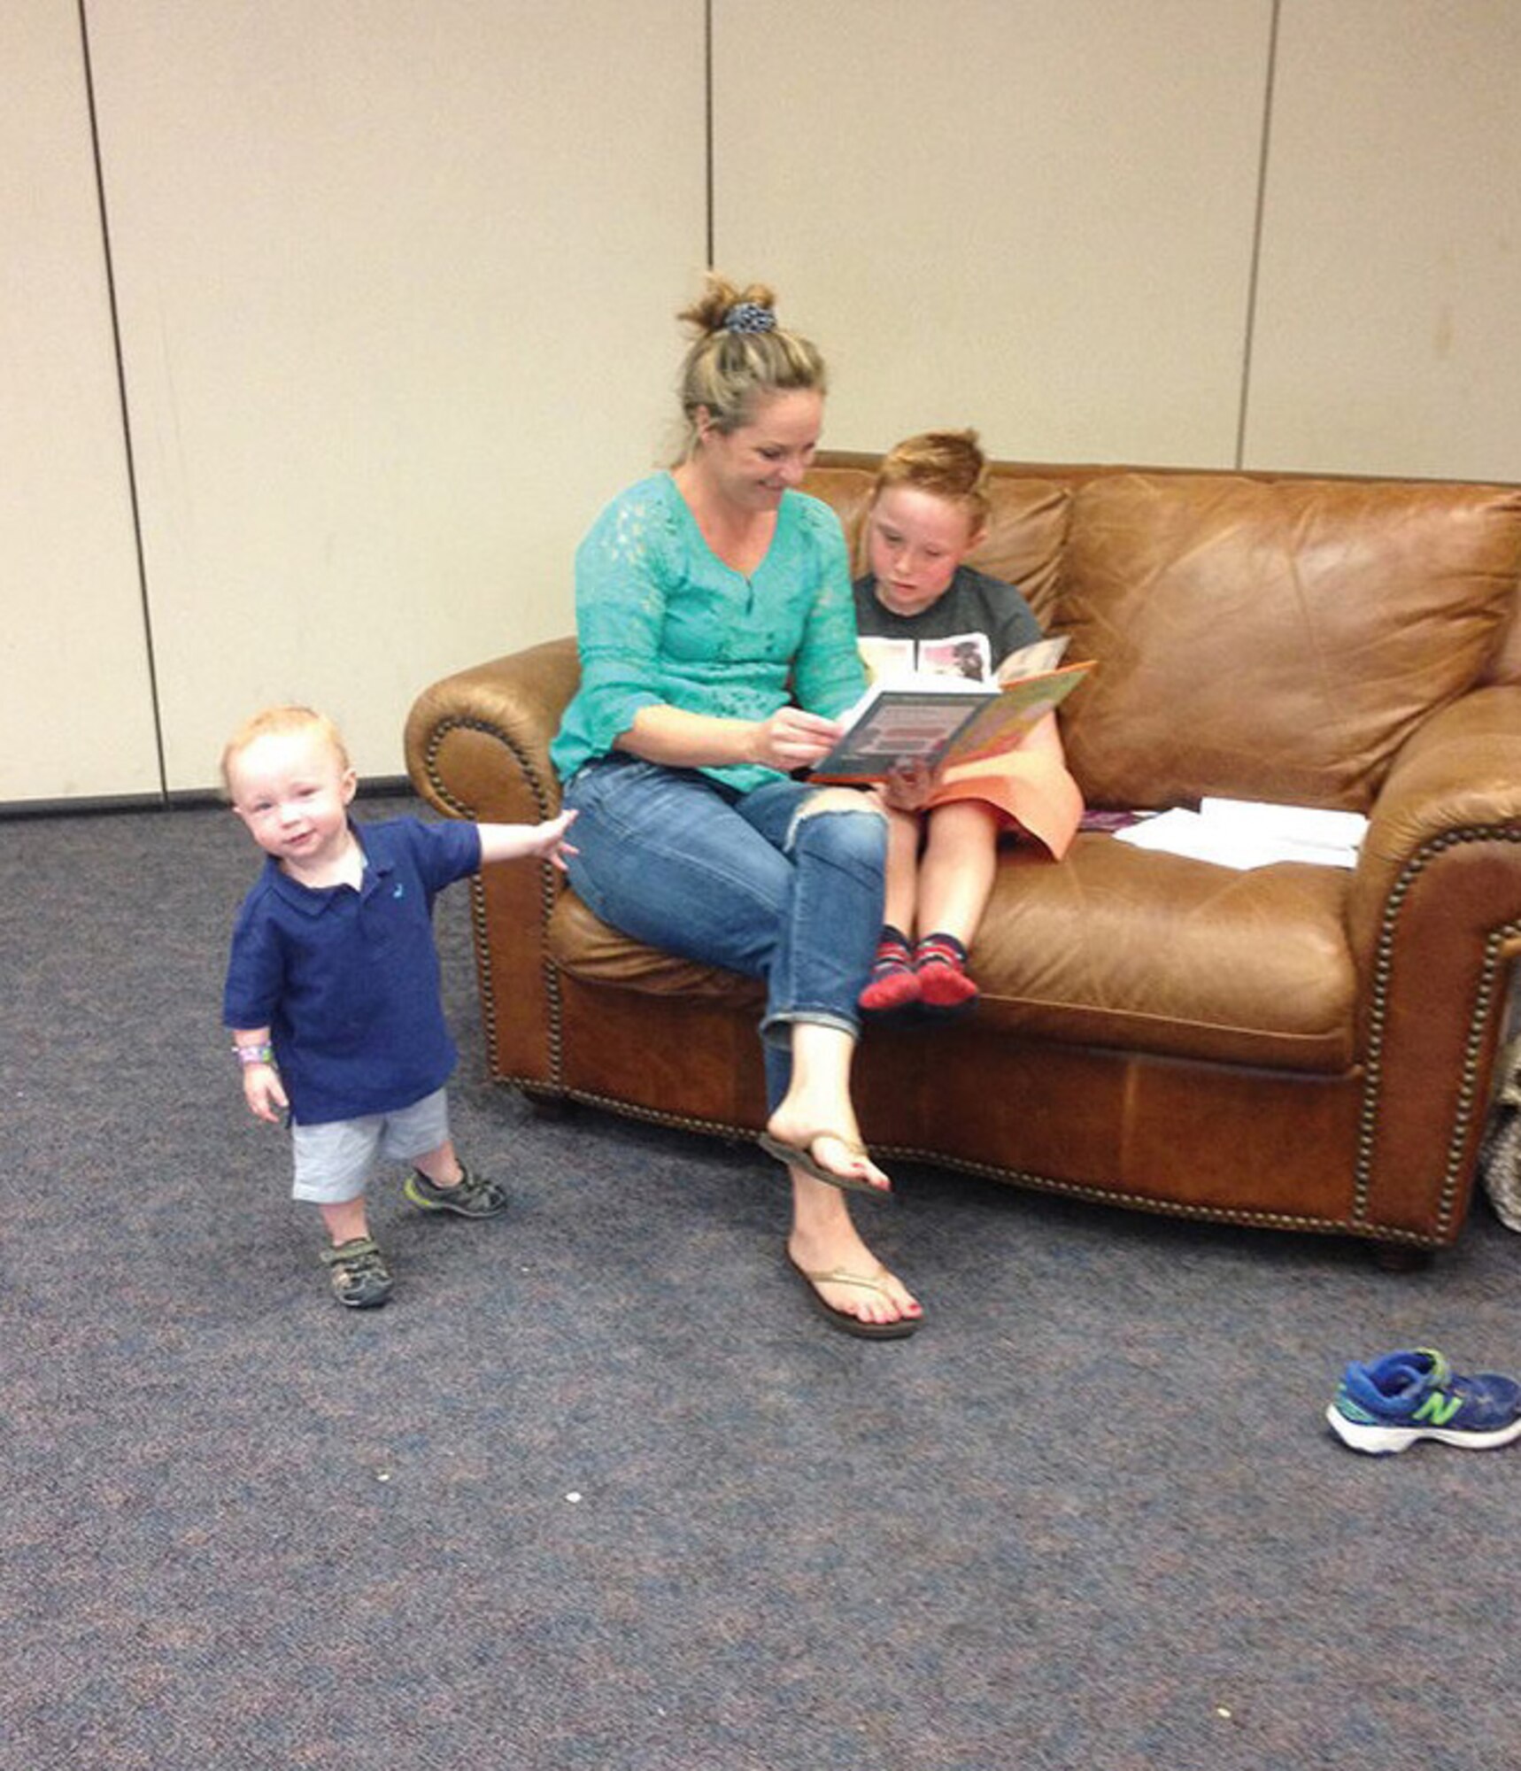
[[(560, 809), (549, 740), (579, 680), (574, 639), (492, 659), (425, 689), (405, 730), (407, 772), (439, 811), (476, 824), (538, 824)], [(503, 1082), (554, 1093), (560, 985), (549, 917), (561, 875), (506, 861), (471, 882), (487, 1064)]]

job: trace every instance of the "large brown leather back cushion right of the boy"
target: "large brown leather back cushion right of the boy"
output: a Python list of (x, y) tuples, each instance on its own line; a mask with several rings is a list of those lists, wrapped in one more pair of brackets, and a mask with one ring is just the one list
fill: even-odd
[(1491, 662), (1521, 492), (1116, 475), (1075, 499), (1057, 600), (1100, 669), (1062, 710), (1092, 804), (1202, 793), (1365, 811)]

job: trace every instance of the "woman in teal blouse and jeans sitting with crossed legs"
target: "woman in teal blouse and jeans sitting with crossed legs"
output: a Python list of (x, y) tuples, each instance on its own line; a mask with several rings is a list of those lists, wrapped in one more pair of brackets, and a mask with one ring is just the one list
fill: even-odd
[(864, 689), (845, 537), (797, 491), (823, 360), (758, 285), (710, 275), (680, 317), (680, 459), (575, 556), (581, 689), (552, 746), (579, 815), (570, 882), (639, 940), (765, 978), (761, 1146), (791, 1174), (788, 1259), (834, 1326), (901, 1339), (919, 1303), (843, 1197), (889, 1188), (850, 1100), (885, 825), (873, 799), (790, 777)]

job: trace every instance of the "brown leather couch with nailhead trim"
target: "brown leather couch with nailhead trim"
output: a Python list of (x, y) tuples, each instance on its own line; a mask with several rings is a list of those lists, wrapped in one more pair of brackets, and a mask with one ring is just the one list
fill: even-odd
[[(857, 554), (871, 462), (809, 482)], [(864, 1036), (868, 1139), (1107, 1204), (1450, 1243), (1521, 949), (1521, 487), (995, 473), (974, 563), (1100, 664), (1062, 708), (1089, 806), (1220, 793), (1372, 822), (1355, 871), (1009, 847), (976, 1013)], [(575, 677), (556, 639), (436, 684), (407, 723), (418, 792), (551, 815)], [(623, 939), (549, 868), (492, 868), (473, 903), (494, 1077), (761, 1125), (754, 983)]]

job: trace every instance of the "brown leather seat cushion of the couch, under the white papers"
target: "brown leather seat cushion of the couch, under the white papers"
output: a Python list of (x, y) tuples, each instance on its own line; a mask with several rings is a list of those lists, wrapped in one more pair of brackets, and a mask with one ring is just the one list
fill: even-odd
[[(1098, 834), (1078, 836), (1062, 862), (1022, 845), (1006, 854), (972, 944), (983, 986), (976, 1024), (1340, 1075), (1358, 1038), (1347, 878), (1303, 864), (1236, 873)], [(761, 1011), (754, 979), (629, 940), (570, 891), (560, 894), (549, 947), (586, 983)]]

